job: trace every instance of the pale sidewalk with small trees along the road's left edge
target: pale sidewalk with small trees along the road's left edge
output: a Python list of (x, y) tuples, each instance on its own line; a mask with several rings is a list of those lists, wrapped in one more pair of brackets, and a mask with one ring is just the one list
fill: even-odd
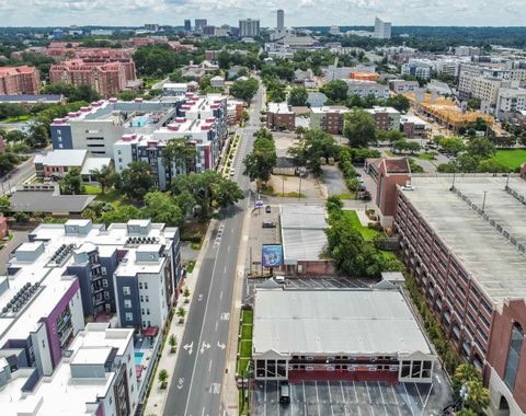
[[(204, 244), (202, 250), (199, 251), (199, 255), (197, 256), (195, 267), (192, 270), (192, 273), (186, 276), (186, 279), (184, 281), (185, 282), (184, 287), (188, 288), (190, 290), (190, 298), (188, 298), (190, 303), (178, 302), (176, 309), (179, 309), (180, 305), (182, 305), (186, 311), (186, 316), (185, 316), (184, 323), (179, 324), (179, 316), (175, 314), (176, 310), (174, 311), (172, 322), (170, 324), (170, 330), (167, 334), (167, 342), (164, 344), (163, 350), (161, 351), (161, 358), (159, 359), (157, 371), (155, 374), (152, 374), (151, 382), (153, 383), (153, 385), (151, 388), (148, 402), (144, 409), (144, 415), (146, 416), (149, 416), (149, 415), (160, 416), (164, 412), (164, 405), (167, 403), (168, 393), (170, 391), (170, 383), (172, 382), (173, 373), (175, 371), (175, 363), (178, 362), (179, 351), (181, 350), (181, 342), (183, 339), (184, 330), (186, 327), (187, 314), (188, 314), (190, 305), (192, 304), (192, 298), (194, 294), (195, 285), (197, 282), (197, 277), (199, 276), (199, 269), (203, 263), (203, 257), (205, 256), (206, 251), (208, 249), (211, 230), (214, 229), (215, 224), (216, 224), (216, 220), (213, 219), (208, 224), (208, 230), (206, 231), (206, 235), (203, 240)], [(181, 296), (180, 299), (184, 299), (184, 298), (182, 298)], [(178, 348), (175, 354), (170, 353), (170, 345), (168, 343), (168, 339), (170, 338), (171, 335), (174, 335), (175, 339), (178, 340)], [(160, 370), (168, 371), (168, 388), (165, 390), (161, 390), (160, 384), (157, 381), (157, 374)]]

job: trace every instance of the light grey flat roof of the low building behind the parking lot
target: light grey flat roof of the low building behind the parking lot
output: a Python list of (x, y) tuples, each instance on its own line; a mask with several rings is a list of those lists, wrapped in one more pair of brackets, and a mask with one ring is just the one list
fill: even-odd
[(253, 353), (432, 354), (398, 290), (258, 289)]

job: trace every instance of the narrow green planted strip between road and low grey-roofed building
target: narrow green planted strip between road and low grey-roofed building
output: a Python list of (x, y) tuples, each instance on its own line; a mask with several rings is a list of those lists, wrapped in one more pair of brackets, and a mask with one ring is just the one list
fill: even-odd
[(250, 361), (252, 359), (252, 330), (254, 312), (252, 309), (243, 308), (241, 310), (241, 320), (239, 325), (238, 362), (236, 365), (236, 378), (240, 380), (239, 386), (239, 415), (247, 415), (249, 411), (249, 400), (247, 386), (243, 388), (243, 380), (251, 378)]

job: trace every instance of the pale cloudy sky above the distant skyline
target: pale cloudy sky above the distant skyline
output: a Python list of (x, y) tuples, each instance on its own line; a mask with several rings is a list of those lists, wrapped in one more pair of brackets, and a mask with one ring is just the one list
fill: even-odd
[(524, 26), (526, 0), (0, 0), (0, 26), (179, 26), (184, 19), (237, 25), (242, 18), (275, 26), (373, 25), (375, 15), (396, 25)]

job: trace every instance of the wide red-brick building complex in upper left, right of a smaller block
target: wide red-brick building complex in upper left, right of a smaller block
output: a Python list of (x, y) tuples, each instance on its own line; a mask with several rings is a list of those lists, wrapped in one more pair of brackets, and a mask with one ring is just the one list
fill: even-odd
[(52, 66), (49, 78), (52, 83), (90, 85), (101, 96), (108, 97), (125, 90), (132, 72), (135, 72), (135, 65), (130, 68), (129, 62), (72, 59)]

